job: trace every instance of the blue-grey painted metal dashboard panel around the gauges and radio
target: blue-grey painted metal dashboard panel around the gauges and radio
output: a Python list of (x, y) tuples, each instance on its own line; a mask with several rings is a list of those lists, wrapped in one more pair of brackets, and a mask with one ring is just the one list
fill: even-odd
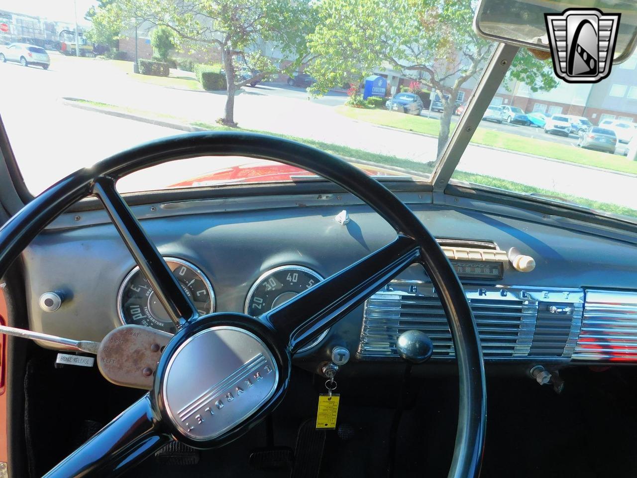
[[(285, 197), (281, 201), (281, 207), (263, 209), (258, 199), (252, 205), (246, 199), (240, 210), (217, 212), (199, 212), (196, 204), (190, 210), (184, 203), (172, 210), (175, 215), (146, 217), (141, 222), (162, 254), (195, 264), (210, 279), (220, 312), (241, 312), (248, 290), (266, 270), (296, 264), (329, 277), (395, 237), (393, 229), (365, 205), (346, 206), (351, 219), (347, 225), (334, 221), (345, 206), (338, 196), (322, 206), (299, 201), (290, 205)], [(537, 266), (530, 273), (508, 268), (498, 281), (502, 286), (566, 290), (582, 286), (627, 289), (634, 284), (637, 247), (609, 238), (605, 231), (557, 227), (550, 218), (543, 224), (505, 214), (417, 204), (413, 198), (410, 207), (436, 236), (488, 239), (503, 250), (516, 247), (536, 259)], [(136, 206), (136, 210), (140, 208), (143, 206)], [(104, 212), (90, 214), (96, 221), (85, 224), (85, 218), (91, 216), (81, 213), (82, 220), (72, 227), (71, 216), (68, 224), (41, 233), (22, 254), (29, 326), (34, 331), (101, 340), (120, 324), (117, 291), (135, 264), (115, 228), (99, 220)], [(427, 280), (421, 267), (400, 277)], [(487, 289), (495, 287), (492, 280), (484, 283), (490, 284)], [(64, 294), (62, 307), (55, 312), (39, 308), (39, 297), (48, 291)], [(324, 344), (331, 343), (330, 337), (338, 337), (354, 352), (362, 314), (360, 307), (336, 324)]]

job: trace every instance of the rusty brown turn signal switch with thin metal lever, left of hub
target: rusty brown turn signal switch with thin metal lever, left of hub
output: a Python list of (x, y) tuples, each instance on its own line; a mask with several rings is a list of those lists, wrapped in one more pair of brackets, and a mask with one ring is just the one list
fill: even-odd
[(73, 340), (46, 333), (0, 325), (0, 333), (64, 345), (78, 352), (97, 355), (97, 368), (109, 382), (150, 390), (157, 363), (173, 335), (141, 325), (111, 330), (101, 342)]

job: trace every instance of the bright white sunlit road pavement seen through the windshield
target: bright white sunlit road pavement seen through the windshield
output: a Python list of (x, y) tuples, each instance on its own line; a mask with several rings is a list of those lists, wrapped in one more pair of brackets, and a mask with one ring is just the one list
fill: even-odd
[[(0, 77), (3, 90), (10, 92), (3, 94), (0, 113), (27, 185), (36, 192), (79, 166), (90, 165), (142, 141), (178, 133), (82, 112), (62, 105), (60, 98), (64, 96), (208, 123), (221, 115), (225, 103), (224, 94), (140, 83), (111, 68), (109, 62), (94, 59), (53, 57), (48, 71), (0, 64)], [(336, 99), (341, 101), (335, 95), (333, 101)], [(436, 156), (435, 138), (347, 119), (334, 112), (333, 106), (308, 101), (305, 92), (299, 89), (271, 85), (246, 89), (236, 96), (235, 120), (241, 127), (314, 138), (424, 163)], [(472, 145), (464, 154), (460, 169), (550, 189), (557, 194), (637, 208), (634, 194), (637, 178), (575, 164)]]

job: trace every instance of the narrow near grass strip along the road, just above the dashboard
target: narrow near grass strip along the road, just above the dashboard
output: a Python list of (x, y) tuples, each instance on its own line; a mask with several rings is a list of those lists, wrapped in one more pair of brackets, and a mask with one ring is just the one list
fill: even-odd
[[(76, 100), (78, 103), (84, 103), (92, 106), (96, 106), (98, 108), (104, 108), (107, 110), (113, 111), (121, 111), (131, 114), (137, 114), (144, 117), (162, 117), (164, 119), (172, 119), (178, 122), (182, 122), (183, 124), (190, 124), (191, 126), (201, 127), (203, 129), (208, 129), (210, 131), (237, 131), (236, 128), (231, 128), (227, 126), (222, 126), (220, 124), (210, 124), (201, 121), (187, 122), (186, 120), (171, 117), (170, 115), (159, 115), (155, 112), (148, 112), (143, 110), (134, 110), (132, 108), (125, 108), (117, 105), (109, 105), (107, 103), (99, 103), (97, 101), (87, 101), (87, 100)], [(350, 108), (353, 109), (353, 108)], [(369, 110), (363, 110), (369, 111)], [(391, 113), (390, 113), (391, 114)], [(401, 115), (406, 116), (406, 115)], [(359, 161), (369, 161), (370, 163), (375, 163), (384, 166), (391, 166), (394, 168), (402, 168), (407, 170), (408, 172), (415, 173), (416, 175), (429, 175), (431, 171), (433, 171), (433, 163), (419, 163), (417, 161), (412, 161), (410, 159), (403, 159), (396, 156), (388, 156), (384, 154), (376, 154), (356, 148), (350, 148), (347, 146), (336, 145), (333, 143), (325, 143), (324, 141), (311, 140), (308, 138), (299, 138), (297, 136), (290, 136), (289, 134), (278, 134), (271, 133), (270, 131), (261, 131), (257, 129), (241, 129), (240, 131), (248, 131), (250, 133), (262, 133), (262, 134), (270, 134), (271, 136), (278, 136), (279, 138), (285, 138), (287, 140), (298, 141), (299, 143), (304, 143), (306, 145), (318, 148), (320, 150), (324, 150), (336, 156), (342, 156), (347, 159), (354, 159)], [(612, 203), (604, 203), (601, 201), (594, 201), (592, 199), (580, 198), (578, 196), (571, 196), (569, 194), (557, 193), (555, 191), (550, 191), (548, 189), (541, 189), (534, 186), (529, 186), (526, 184), (521, 184), (518, 182), (513, 182), (501, 178), (494, 178), (485, 175), (478, 175), (473, 173), (465, 173), (463, 171), (454, 171), (454, 175), (452, 177), (456, 180), (466, 181), (477, 185), (485, 185), (488, 187), (496, 187), (498, 189), (504, 189), (505, 191), (511, 192), (519, 192), (522, 194), (530, 194), (533, 192), (539, 194), (546, 194), (548, 196), (559, 196), (560, 198), (569, 201), (571, 203), (575, 203), (576, 205), (588, 207), (594, 210), (610, 213), (610, 214), (618, 214), (618, 215), (626, 215), (629, 217), (637, 217), (637, 210), (628, 208), (626, 206), (620, 206)]]

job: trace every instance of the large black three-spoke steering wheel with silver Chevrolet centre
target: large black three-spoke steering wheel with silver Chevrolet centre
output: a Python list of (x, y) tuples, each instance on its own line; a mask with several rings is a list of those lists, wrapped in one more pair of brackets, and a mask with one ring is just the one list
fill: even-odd
[[(331, 180), (389, 222), (396, 239), (258, 319), (199, 315), (115, 183), (166, 161), (227, 155), (270, 159)], [(237, 438), (282, 402), (294, 352), (413, 263), (424, 266), (438, 291), (458, 362), (458, 428), (448, 476), (480, 474), (486, 387), (471, 309), (436, 240), (382, 184), (337, 157), (261, 134), (204, 132), (152, 141), (76, 171), (25, 205), (0, 229), (0, 277), (48, 223), (91, 194), (103, 203), (178, 331), (162, 353), (152, 390), (47, 477), (119, 475), (171, 440), (207, 449)]]

